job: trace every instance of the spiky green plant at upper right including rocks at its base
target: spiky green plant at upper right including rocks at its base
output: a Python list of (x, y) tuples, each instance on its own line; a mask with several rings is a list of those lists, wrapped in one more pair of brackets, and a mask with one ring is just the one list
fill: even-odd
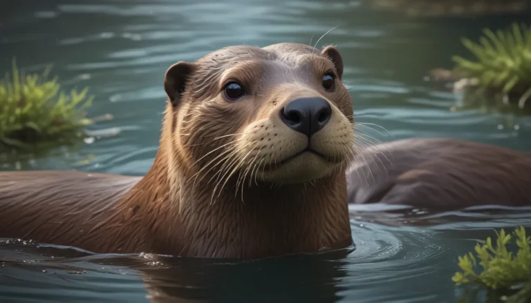
[(453, 70), (437, 68), (436, 81), (454, 81), (453, 109), (531, 113), (531, 27), (513, 23), (505, 30), (483, 30), (478, 42), (463, 38), (471, 59), (454, 56)]

